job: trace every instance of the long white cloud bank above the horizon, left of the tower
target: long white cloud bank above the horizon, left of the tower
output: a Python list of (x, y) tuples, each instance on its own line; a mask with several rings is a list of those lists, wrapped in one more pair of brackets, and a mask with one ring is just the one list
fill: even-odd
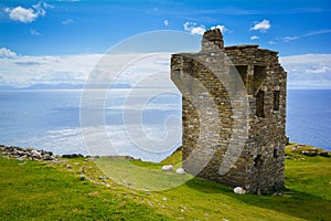
[[(78, 54), (61, 56), (15, 55), (1, 49), (1, 85), (33, 84), (129, 84), (138, 87), (174, 87), (169, 77), (170, 54)], [(6, 59), (11, 56), (11, 59)], [(115, 57), (114, 57), (115, 56)], [(136, 61), (128, 65), (128, 62)], [(119, 71), (126, 65), (126, 70)]]

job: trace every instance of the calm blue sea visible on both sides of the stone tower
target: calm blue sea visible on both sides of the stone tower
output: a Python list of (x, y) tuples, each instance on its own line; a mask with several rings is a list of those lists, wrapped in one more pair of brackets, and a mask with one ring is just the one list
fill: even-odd
[[(170, 148), (161, 151), (150, 152), (137, 147), (139, 141), (132, 140), (127, 128), (127, 124), (134, 123), (124, 122), (122, 109), (138, 114), (143, 123), (140, 129), (151, 140), (162, 141), (168, 133), (181, 137), (180, 126), (175, 131), (164, 128), (164, 123), (171, 116), (180, 123), (181, 97), (174, 91), (162, 94), (152, 90), (145, 91), (145, 94), (157, 95), (148, 99), (141, 112), (138, 95), (132, 98), (134, 102), (125, 105), (128, 93), (128, 90), (113, 90), (111, 94), (106, 96), (103, 112), (99, 113), (104, 116), (104, 122), (93, 122), (97, 115), (95, 113), (90, 118), (93, 124), (83, 125), (83, 130), (79, 114), (81, 90), (0, 91), (0, 144), (45, 149), (57, 155), (88, 155), (94, 152), (88, 148), (104, 143), (100, 134), (106, 131), (107, 138), (119, 155), (151, 161), (161, 160), (173, 151), (181, 140), (172, 141)], [(287, 102), (287, 135), (290, 140), (331, 150), (331, 90), (289, 90)]]

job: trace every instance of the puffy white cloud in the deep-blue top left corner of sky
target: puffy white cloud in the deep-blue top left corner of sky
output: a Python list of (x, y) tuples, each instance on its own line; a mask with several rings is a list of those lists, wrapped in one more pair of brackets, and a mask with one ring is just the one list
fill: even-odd
[(32, 6), (32, 9), (25, 9), (23, 7), (6, 8), (4, 11), (9, 14), (9, 18), (13, 21), (20, 21), (22, 23), (31, 23), (39, 17), (46, 14), (45, 9), (52, 9), (53, 6), (44, 2), (43, 0)]

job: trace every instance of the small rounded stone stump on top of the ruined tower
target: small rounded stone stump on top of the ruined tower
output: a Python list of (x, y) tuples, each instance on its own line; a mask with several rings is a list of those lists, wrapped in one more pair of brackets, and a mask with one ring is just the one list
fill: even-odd
[(220, 29), (211, 29), (204, 32), (202, 39), (202, 52), (217, 51), (223, 48), (223, 34)]

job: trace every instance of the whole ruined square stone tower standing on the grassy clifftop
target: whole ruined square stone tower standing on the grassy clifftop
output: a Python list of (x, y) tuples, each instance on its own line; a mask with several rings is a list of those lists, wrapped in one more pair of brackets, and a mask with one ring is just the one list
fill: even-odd
[(224, 46), (218, 29), (204, 33), (200, 52), (172, 54), (188, 172), (250, 193), (284, 187), (287, 73), (277, 54)]

